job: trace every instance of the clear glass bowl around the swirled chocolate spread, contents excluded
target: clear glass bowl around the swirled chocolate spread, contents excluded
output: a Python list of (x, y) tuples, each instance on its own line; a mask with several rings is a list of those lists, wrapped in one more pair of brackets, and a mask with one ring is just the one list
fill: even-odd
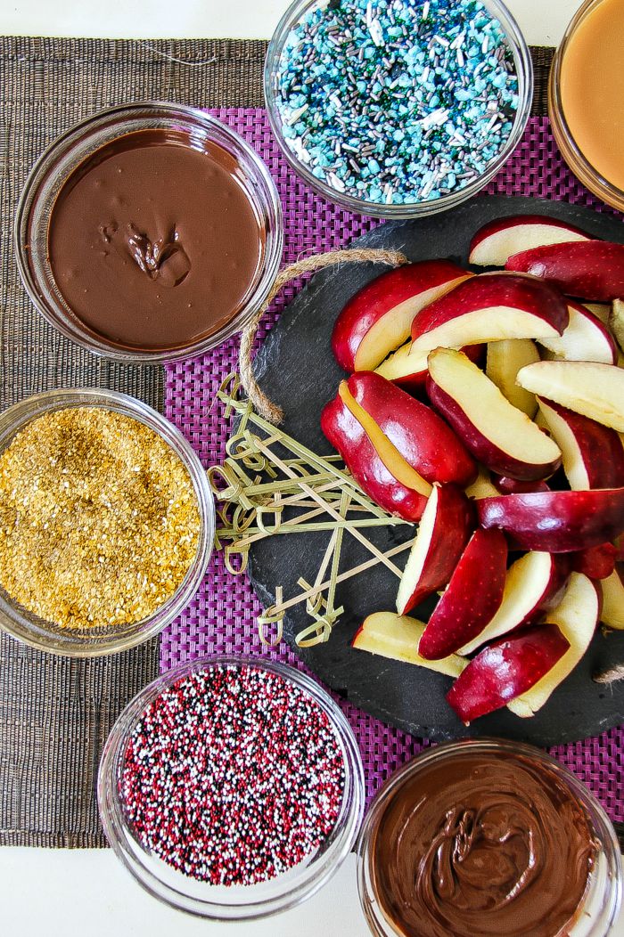
[(572, 920), (551, 937), (606, 937), (612, 929), (622, 898), (622, 865), (616, 832), (601, 804), (568, 768), (532, 745), (498, 738), (464, 739), (446, 742), (419, 754), (393, 774), (373, 800), (362, 825), (358, 840), (358, 892), (362, 910), (375, 937), (404, 937), (403, 930), (394, 928), (384, 914), (375, 891), (373, 849), (376, 830), (388, 803), (404, 782), (418, 778), (432, 765), (444, 764), (462, 755), (491, 755), (505, 752), (520, 756), (536, 766), (552, 771), (584, 809), (598, 845), (598, 856), (592, 870), (584, 899)]

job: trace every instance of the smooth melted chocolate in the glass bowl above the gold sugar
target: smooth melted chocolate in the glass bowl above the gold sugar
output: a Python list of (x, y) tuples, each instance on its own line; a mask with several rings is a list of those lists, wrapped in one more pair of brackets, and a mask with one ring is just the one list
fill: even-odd
[(74, 316), (117, 348), (178, 350), (244, 305), (265, 230), (236, 157), (168, 129), (109, 142), (50, 217), (53, 277)]

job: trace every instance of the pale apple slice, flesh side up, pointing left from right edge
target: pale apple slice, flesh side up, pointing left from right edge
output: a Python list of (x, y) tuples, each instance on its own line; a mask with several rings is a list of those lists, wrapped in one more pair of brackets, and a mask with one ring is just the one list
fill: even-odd
[(526, 391), (624, 431), (624, 370), (591, 361), (540, 361), (518, 372)]

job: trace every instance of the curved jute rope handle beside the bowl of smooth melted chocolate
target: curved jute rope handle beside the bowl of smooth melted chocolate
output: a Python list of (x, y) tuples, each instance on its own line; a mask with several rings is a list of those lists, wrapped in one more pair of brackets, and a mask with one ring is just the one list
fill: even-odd
[(269, 400), (266, 394), (260, 389), (256, 379), (253, 377), (251, 366), (251, 350), (253, 342), (258, 331), (260, 320), (266, 313), (266, 309), (273, 302), (282, 287), (294, 280), (297, 276), (313, 273), (315, 270), (322, 270), (323, 267), (330, 267), (337, 263), (386, 263), (390, 267), (401, 267), (403, 263), (409, 261), (400, 250), (379, 249), (358, 249), (358, 250), (330, 250), (327, 254), (314, 254), (312, 257), (306, 257), (304, 260), (297, 260), (284, 267), (282, 272), (275, 278), (275, 283), (266, 297), (266, 303), (259, 312), (253, 317), (249, 325), (245, 328), (240, 339), (240, 351), (238, 353), (238, 370), (240, 380), (247, 392), (248, 397), (253, 404), (256, 412), (268, 420), (269, 423), (278, 425), (283, 420), (283, 410)]

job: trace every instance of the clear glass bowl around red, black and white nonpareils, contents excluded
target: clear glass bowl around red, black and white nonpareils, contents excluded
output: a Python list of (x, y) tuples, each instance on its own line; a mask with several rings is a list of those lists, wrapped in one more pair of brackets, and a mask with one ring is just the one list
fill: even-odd
[[(327, 715), (344, 759), (344, 791), (336, 824), (322, 848), (297, 866), (257, 885), (210, 885), (174, 870), (149, 853), (134, 835), (119, 790), (129, 737), (145, 708), (180, 677), (219, 665), (249, 666), (278, 675), (309, 694)], [(364, 776), (358, 745), (342, 710), (310, 677), (278, 662), (243, 655), (183, 663), (138, 693), (115, 722), (99, 766), (98, 802), (104, 832), (117, 858), (155, 898), (181, 911), (213, 920), (251, 920), (274, 915), (310, 898), (338, 870), (358, 835), (364, 807)]]

